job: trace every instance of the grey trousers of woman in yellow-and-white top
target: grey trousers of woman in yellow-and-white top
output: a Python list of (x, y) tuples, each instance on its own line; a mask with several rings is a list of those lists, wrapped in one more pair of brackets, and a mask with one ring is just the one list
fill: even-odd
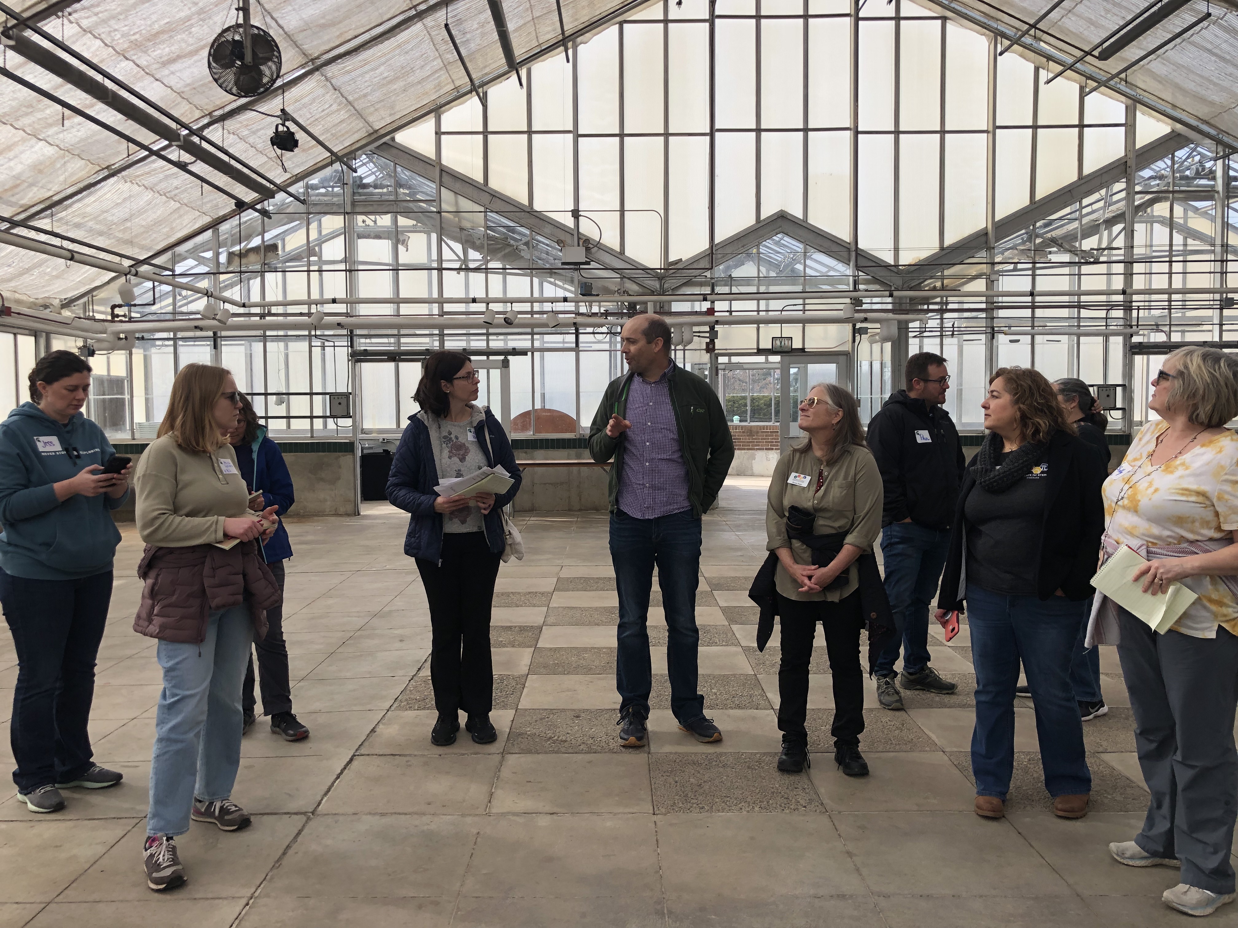
[(1135, 750), (1151, 792), (1135, 844), (1181, 860), (1187, 886), (1233, 892), (1238, 637), (1219, 627), (1214, 638), (1158, 635), (1127, 610), (1118, 615)]

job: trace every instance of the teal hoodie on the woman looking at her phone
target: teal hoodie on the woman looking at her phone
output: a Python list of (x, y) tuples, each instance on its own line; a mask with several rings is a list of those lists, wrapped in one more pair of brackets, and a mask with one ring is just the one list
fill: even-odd
[[(120, 531), (111, 510), (125, 497), (76, 494), (52, 484), (113, 454), (103, 429), (83, 416), (63, 426), (26, 402), (0, 424), (0, 568), (36, 580), (76, 580), (111, 569)], [(126, 494), (128, 495), (128, 494)]]

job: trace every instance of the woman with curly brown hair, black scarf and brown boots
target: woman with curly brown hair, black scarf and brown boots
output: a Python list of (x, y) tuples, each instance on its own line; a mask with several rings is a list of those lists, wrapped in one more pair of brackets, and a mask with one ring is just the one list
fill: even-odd
[(989, 433), (963, 475), (936, 614), (946, 625), (967, 609), (976, 814), (1005, 815), (1021, 662), (1054, 814), (1082, 818), (1092, 773), (1070, 668), (1092, 595), (1104, 473), (1039, 371), (999, 369), (980, 408)]

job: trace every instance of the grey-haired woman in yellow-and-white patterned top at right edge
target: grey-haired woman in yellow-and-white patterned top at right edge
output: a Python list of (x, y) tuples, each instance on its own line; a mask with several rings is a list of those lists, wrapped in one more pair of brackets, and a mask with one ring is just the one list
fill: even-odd
[[(1143, 830), (1109, 845), (1130, 866), (1181, 866), (1170, 908), (1206, 916), (1234, 898), (1238, 809), (1238, 358), (1180, 348), (1153, 379), (1139, 432), (1104, 484), (1104, 556), (1129, 544), (1149, 561), (1145, 593), (1179, 582), (1198, 594), (1165, 634), (1104, 596), (1088, 643), (1117, 643), (1151, 792)], [(1114, 641), (1117, 638), (1117, 642)]]

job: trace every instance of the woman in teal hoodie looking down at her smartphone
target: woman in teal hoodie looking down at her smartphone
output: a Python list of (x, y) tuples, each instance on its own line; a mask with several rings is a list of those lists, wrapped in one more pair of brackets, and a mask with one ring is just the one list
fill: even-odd
[(61, 789), (121, 780), (92, 761), (87, 723), (120, 543), (111, 510), (132, 464), (103, 473), (113, 449), (82, 413), (89, 392), (90, 365), (52, 351), (30, 371), (31, 401), (0, 426), (0, 603), (17, 650), (9, 735), (31, 812), (63, 809)]

